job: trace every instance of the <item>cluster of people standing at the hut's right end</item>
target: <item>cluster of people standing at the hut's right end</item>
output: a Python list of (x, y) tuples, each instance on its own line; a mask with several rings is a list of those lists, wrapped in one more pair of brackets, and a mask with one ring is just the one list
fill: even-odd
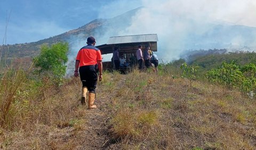
[[(139, 63), (139, 69), (142, 70), (142, 64), (143, 62), (145, 63), (146, 68), (152, 68), (153, 71), (158, 71), (157, 66), (158, 66), (158, 57), (156, 54), (153, 53), (153, 51), (150, 50), (149, 46), (145, 47), (145, 50), (143, 50), (143, 55), (142, 55), (142, 45), (138, 46), (138, 50), (136, 52), (137, 60)], [(154, 68), (153, 65), (154, 64)]]

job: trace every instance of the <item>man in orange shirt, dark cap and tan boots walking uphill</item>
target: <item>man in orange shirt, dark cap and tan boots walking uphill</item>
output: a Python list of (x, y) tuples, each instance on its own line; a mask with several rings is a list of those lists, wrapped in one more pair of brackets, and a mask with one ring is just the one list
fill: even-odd
[(74, 76), (78, 77), (79, 74), (83, 84), (82, 87), (82, 105), (86, 102), (86, 93), (89, 90), (89, 101), (87, 109), (96, 109), (97, 106), (93, 105), (95, 100), (95, 89), (97, 86), (97, 66), (99, 68), (99, 81), (102, 80), (102, 56), (101, 52), (95, 46), (95, 39), (93, 37), (87, 38), (87, 46), (82, 47), (76, 56), (75, 73)]

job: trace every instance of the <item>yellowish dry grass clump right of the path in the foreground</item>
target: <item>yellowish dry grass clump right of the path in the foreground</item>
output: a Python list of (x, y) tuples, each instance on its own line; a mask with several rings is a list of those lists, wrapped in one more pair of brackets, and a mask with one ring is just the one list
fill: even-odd
[(111, 119), (111, 131), (115, 139), (142, 140), (157, 124), (158, 115), (155, 111), (134, 111), (125, 109), (118, 111)]

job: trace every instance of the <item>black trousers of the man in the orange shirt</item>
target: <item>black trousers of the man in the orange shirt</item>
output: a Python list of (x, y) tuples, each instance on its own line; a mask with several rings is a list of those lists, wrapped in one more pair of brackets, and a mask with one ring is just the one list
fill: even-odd
[(80, 79), (83, 87), (87, 87), (89, 93), (95, 93), (97, 86), (97, 65), (84, 65), (79, 67)]

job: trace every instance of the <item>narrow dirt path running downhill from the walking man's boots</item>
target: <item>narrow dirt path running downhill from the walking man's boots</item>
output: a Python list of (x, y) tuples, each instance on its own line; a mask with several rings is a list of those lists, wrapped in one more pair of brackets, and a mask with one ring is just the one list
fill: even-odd
[(76, 149), (111, 149), (111, 138), (108, 134), (107, 122), (111, 113), (107, 108), (107, 99), (97, 98), (94, 102), (98, 106), (95, 110), (85, 110), (86, 129), (79, 137), (81, 145)]

